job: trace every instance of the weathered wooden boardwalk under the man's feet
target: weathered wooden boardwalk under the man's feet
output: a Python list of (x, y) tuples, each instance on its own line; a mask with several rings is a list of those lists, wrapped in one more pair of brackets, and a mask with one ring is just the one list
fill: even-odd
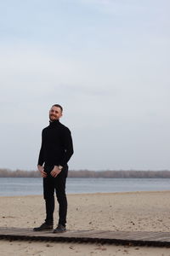
[(34, 232), (31, 229), (0, 227), (0, 239), (170, 247), (170, 232), (67, 230), (65, 233), (54, 234), (52, 231)]

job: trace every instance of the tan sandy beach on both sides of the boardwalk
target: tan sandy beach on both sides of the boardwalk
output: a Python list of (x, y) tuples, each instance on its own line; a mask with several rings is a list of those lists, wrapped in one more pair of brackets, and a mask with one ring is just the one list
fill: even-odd
[[(45, 218), (42, 195), (0, 197), (0, 226), (33, 228)], [(55, 207), (58, 220), (58, 204)], [(68, 230), (170, 230), (170, 191), (68, 195)], [(170, 248), (1, 241), (0, 255), (161, 255)]]

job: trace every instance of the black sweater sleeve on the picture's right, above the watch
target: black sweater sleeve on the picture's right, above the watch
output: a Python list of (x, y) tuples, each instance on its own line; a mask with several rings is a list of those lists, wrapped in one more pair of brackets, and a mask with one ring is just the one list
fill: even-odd
[(68, 128), (65, 129), (65, 132), (64, 132), (64, 147), (65, 147), (65, 154), (62, 156), (59, 162), (60, 166), (65, 166), (67, 162), (71, 159), (71, 155), (74, 153), (71, 131)]

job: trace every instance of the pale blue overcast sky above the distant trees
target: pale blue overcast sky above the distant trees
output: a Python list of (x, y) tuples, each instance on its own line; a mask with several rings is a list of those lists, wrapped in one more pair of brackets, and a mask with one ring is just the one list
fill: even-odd
[(54, 103), (70, 169), (170, 169), (170, 2), (0, 2), (0, 168), (35, 170)]

